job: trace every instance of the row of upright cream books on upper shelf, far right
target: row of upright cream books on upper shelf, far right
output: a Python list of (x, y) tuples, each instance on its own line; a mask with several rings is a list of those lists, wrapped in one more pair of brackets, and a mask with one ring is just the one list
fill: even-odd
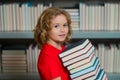
[(80, 30), (119, 31), (119, 6), (119, 2), (79, 2)]

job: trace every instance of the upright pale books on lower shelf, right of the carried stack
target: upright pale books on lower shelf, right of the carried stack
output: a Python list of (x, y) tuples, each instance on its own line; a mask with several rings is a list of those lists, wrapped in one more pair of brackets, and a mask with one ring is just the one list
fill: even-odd
[(118, 45), (118, 43), (110, 43), (109, 45), (101, 43), (98, 45), (97, 55), (99, 57), (101, 67), (108, 73), (120, 72), (120, 47)]

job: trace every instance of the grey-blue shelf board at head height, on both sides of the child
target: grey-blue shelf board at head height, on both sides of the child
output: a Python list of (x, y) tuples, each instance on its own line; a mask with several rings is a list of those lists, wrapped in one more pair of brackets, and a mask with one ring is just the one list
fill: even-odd
[[(34, 39), (33, 32), (0, 32), (0, 39)], [(116, 31), (73, 31), (72, 38), (119, 39)]]

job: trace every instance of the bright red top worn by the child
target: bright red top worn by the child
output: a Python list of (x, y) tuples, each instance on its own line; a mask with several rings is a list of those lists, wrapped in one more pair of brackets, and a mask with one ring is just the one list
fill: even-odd
[(61, 77), (62, 80), (70, 80), (70, 76), (66, 68), (63, 67), (62, 62), (58, 56), (62, 50), (53, 47), (50, 44), (45, 44), (41, 49), (38, 58), (38, 71), (41, 80), (52, 80), (56, 77)]

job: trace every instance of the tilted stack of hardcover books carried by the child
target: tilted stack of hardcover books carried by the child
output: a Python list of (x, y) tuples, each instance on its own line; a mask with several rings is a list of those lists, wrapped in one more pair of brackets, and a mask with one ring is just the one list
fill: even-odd
[(94, 51), (92, 43), (88, 39), (83, 39), (59, 54), (72, 80), (108, 80)]

